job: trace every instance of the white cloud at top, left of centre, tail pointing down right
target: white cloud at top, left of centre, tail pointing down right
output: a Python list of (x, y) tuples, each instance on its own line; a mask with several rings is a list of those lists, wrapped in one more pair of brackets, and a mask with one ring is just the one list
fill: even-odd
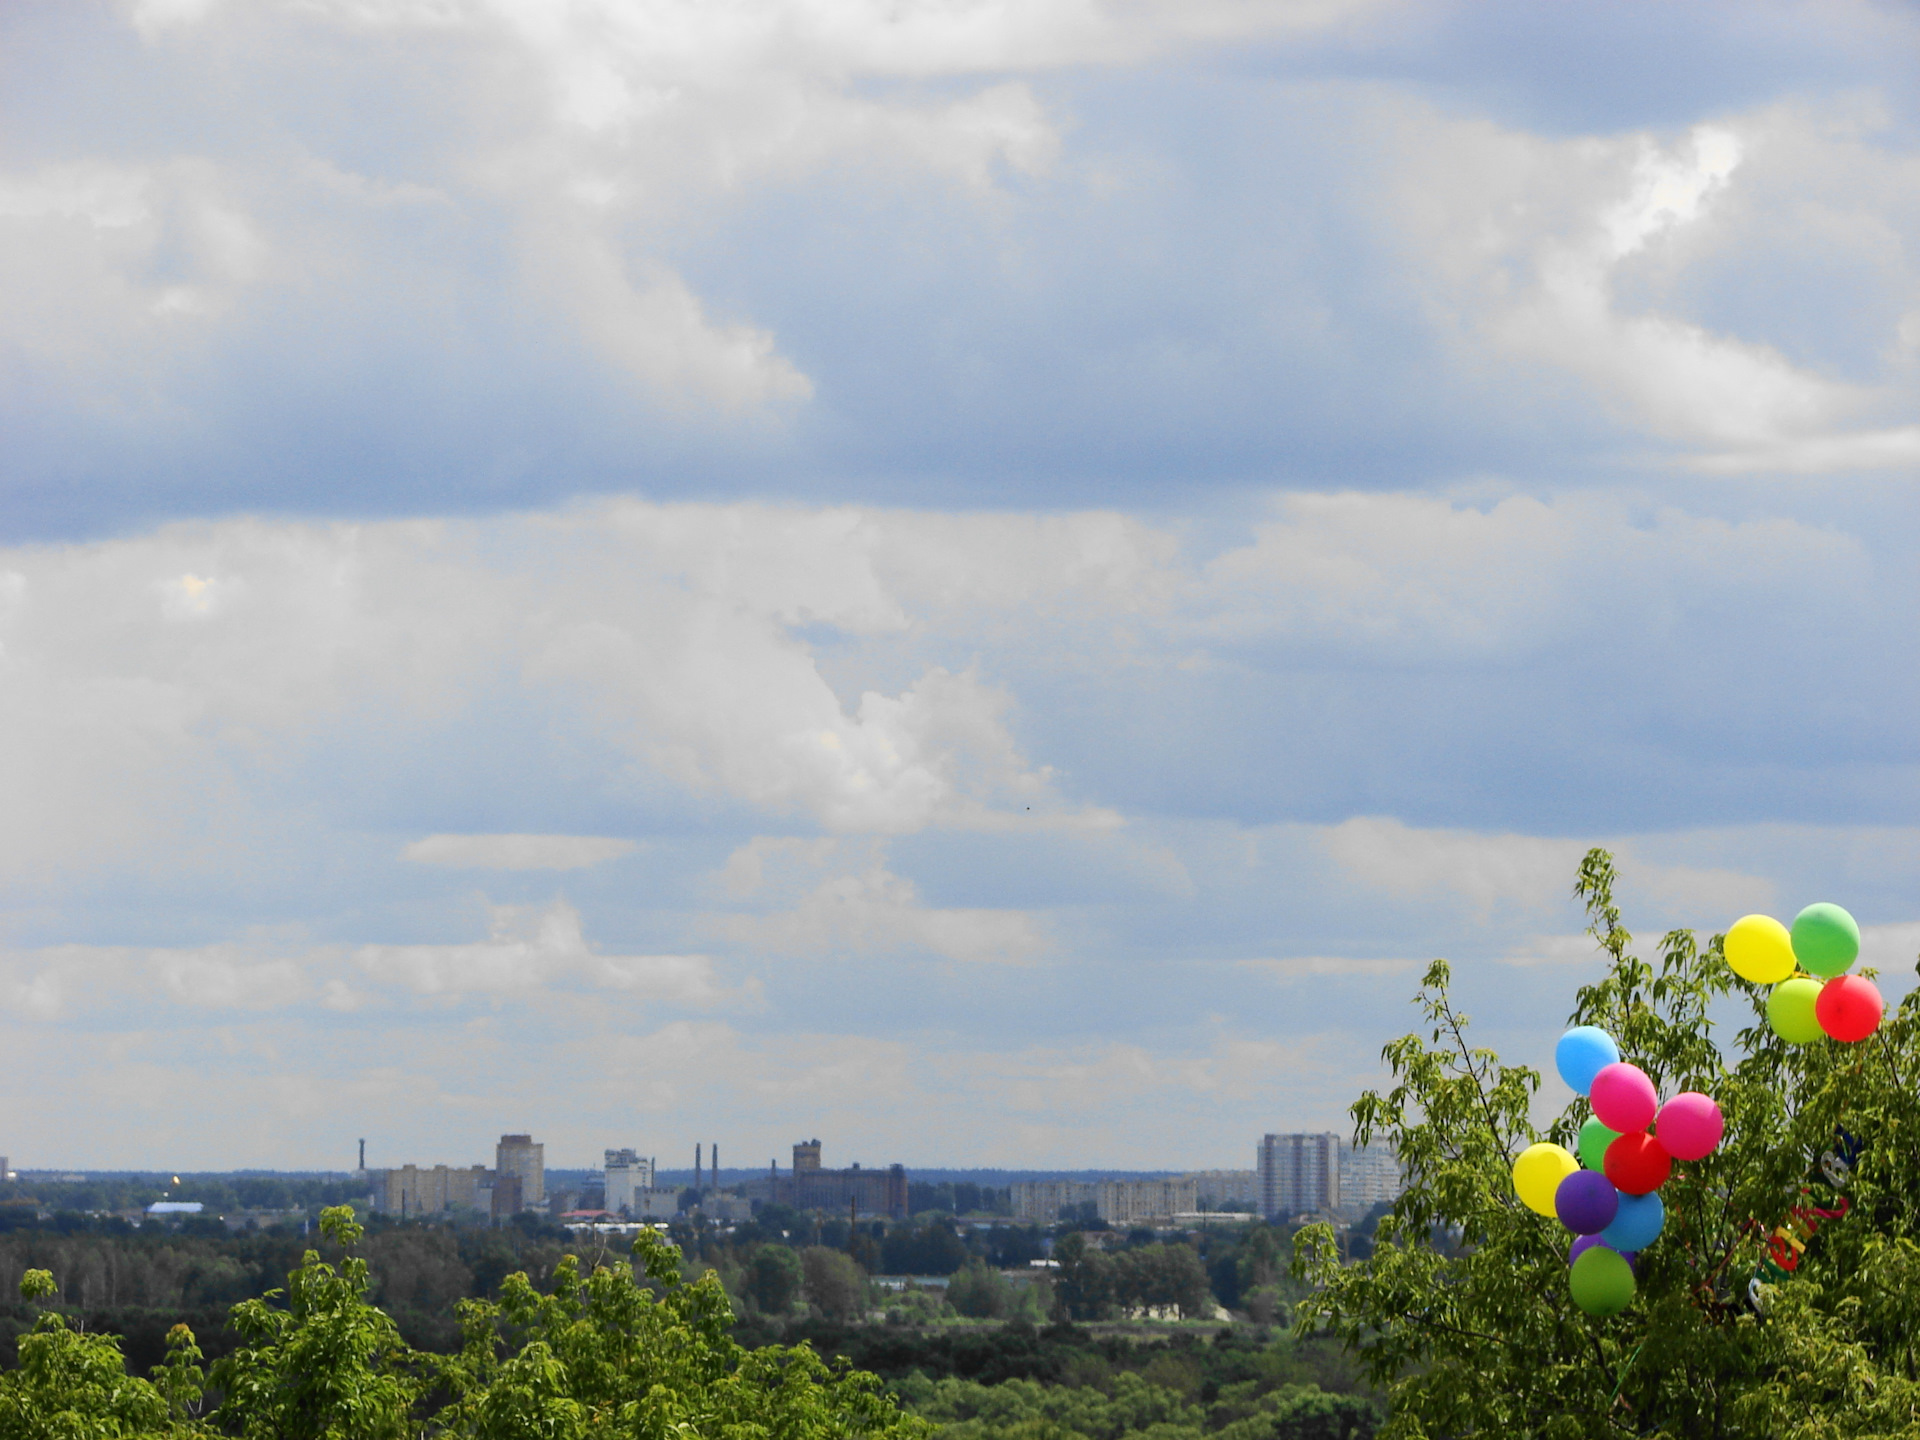
[[(397, 109), (419, 106), (445, 127), (415, 152), (432, 171), (415, 177), (415, 188), (495, 209), (518, 240), (524, 292), (568, 317), (637, 394), (733, 424), (755, 417), (778, 424), (814, 384), (766, 324), (714, 317), (712, 301), (668, 261), (668, 240), (689, 217), (699, 227), (741, 194), (847, 165), (879, 169), (895, 190), (900, 180), (945, 184), (995, 211), (1004, 207), (1006, 177), (1048, 177), (1062, 150), (1060, 123), (1025, 75), (1317, 31), (1377, 8), (1377, 0), (1173, 8), (136, 0), (131, 21), (150, 44), (184, 54), (217, 48), (228, 65), (246, 63), (236, 54), (265, 58), (307, 44), (313, 29), (330, 33), (346, 65), (355, 54), (384, 54), (394, 33), (407, 35), (419, 65)], [(927, 94), (918, 83), (935, 77), (945, 90), (964, 88)], [(447, 113), (432, 88), (457, 88), (472, 104)], [(300, 228), (313, 230), (305, 205), (349, 236), (288, 261), (309, 278), (367, 259), (359, 240), (367, 217), (355, 215), (365, 196), (344, 194), (342, 179), (374, 184), (332, 156), (278, 156), (250, 179), (300, 213)], [(207, 211), (196, 234), (209, 253), (240, 257), (248, 230), (238, 211), (225, 215)], [(46, 242), (40, 252), (54, 257), (60, 246)], [(136, 269), (117, 276), (125, 282)], [(84, 288), (60, 288), (61, 303), (46, 319), (58, 321)], [(213, 288), (180, 284), (157, 298), (156, 313), (215, 317), (223, 303)]]

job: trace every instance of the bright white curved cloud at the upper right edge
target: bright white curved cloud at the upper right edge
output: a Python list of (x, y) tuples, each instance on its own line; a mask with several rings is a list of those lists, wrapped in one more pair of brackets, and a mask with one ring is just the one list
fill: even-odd
[[(1434, 276), (1436, 319), (1471, 346), (1584, 380), (1626, 424), (1715, 472), (1901, 467), (1912, 426), (1862, 426), (1893, 392), (1836, 378), (1759, 336), (1680, 313), (1682, 282), (1741, 246), (1809, 244), (1836, 223), (1809, 207), (1818, 173), (1853, 177), (1843, 225), (1885, 228), (1910, 177), (1868, 159), (1855, 102), (1772, 108), (1645, 132), (1544, 138), (1478, 119), (1404, 115), (1396, 223)], [(1878, 165), (1876, 180), (1859, 184)], [(1791, 205), (1745, 204), (1791, 173)], [(1884, 246), (1878, 246), (1885, 250)], [(1912, 275), (1887, 275), (1895, 292)], [(1759, 305), (1764, 309), (1764, 305)]]

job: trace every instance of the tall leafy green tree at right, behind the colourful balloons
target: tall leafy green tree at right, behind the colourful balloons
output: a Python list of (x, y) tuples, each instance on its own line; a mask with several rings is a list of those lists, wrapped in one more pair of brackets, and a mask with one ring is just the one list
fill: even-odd
[[(1542, 1139), (1540, 1075), (1469, 1044), (1434, 962), (1425, 1033), (1386, 1046), (1392, 1089), (1352, 1112), (1359, 1142), (1392, 1139), (1409, 1187), (1359, 1265), (1340, 1263), (1325, 1225), (1296, 1236), (1296, 1267), (1321, 1286), (1296, 1325), (1363, 1357), (1390, 1394), (1388, 1436), (1920, 1434), (1920, 1000), (1868, 1043), (1788, 1046), (1718, 937), (1699, 948), (1672, 931), (1657, 966), (1636, 958), (1613, 885), (1611, 856), (1588, 852), (1574, 893), (1609, 968), (1571, 1021), (1605, 1027), (1665, 1094), (1705, 1091), (1728, 1119), (1718, 1150), (1661, 1190), (1667, 1229), (1640, 1256), (1634, 1304), (1611, 1319), (1574, 1308), (1569, 1235), (1511, 1183), (1513, 1156)], [(1751, 1014), (1730, 1052), (1715, 1039), (1726, 1000)], [(1546, 1139), (1571, 1148), (1586, 1116), (1576, 1100)], [(1837, 1133), (1864, 1144), (1851, 1167)], [(1770, 1244), (1791, 1277), (1761, 1271)]]

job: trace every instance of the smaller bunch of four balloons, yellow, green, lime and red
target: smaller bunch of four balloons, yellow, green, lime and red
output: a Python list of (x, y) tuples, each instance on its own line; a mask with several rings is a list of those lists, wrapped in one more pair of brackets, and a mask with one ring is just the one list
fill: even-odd
[(1726, 931), (1726, 964), (1741, 979), (1772, 985), (1766, 1023), (1789, 1044), (1822, 1035), (1851, 1044), (1880, 1029), (1880, 991), (1847, 973), (1859, 958), (1860, 927), (1837, 904), (1809, 904), (1793, 929), (1772, 916), (1741, 916)]

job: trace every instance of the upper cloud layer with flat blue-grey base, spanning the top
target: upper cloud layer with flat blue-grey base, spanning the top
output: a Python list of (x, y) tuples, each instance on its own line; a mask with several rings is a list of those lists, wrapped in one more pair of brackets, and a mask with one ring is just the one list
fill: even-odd
[(8, 524), (1910, 470), (1912, 17), (1507, 15), (1620, 31), (1569, 129), (1484, 13), (12, 12)]

